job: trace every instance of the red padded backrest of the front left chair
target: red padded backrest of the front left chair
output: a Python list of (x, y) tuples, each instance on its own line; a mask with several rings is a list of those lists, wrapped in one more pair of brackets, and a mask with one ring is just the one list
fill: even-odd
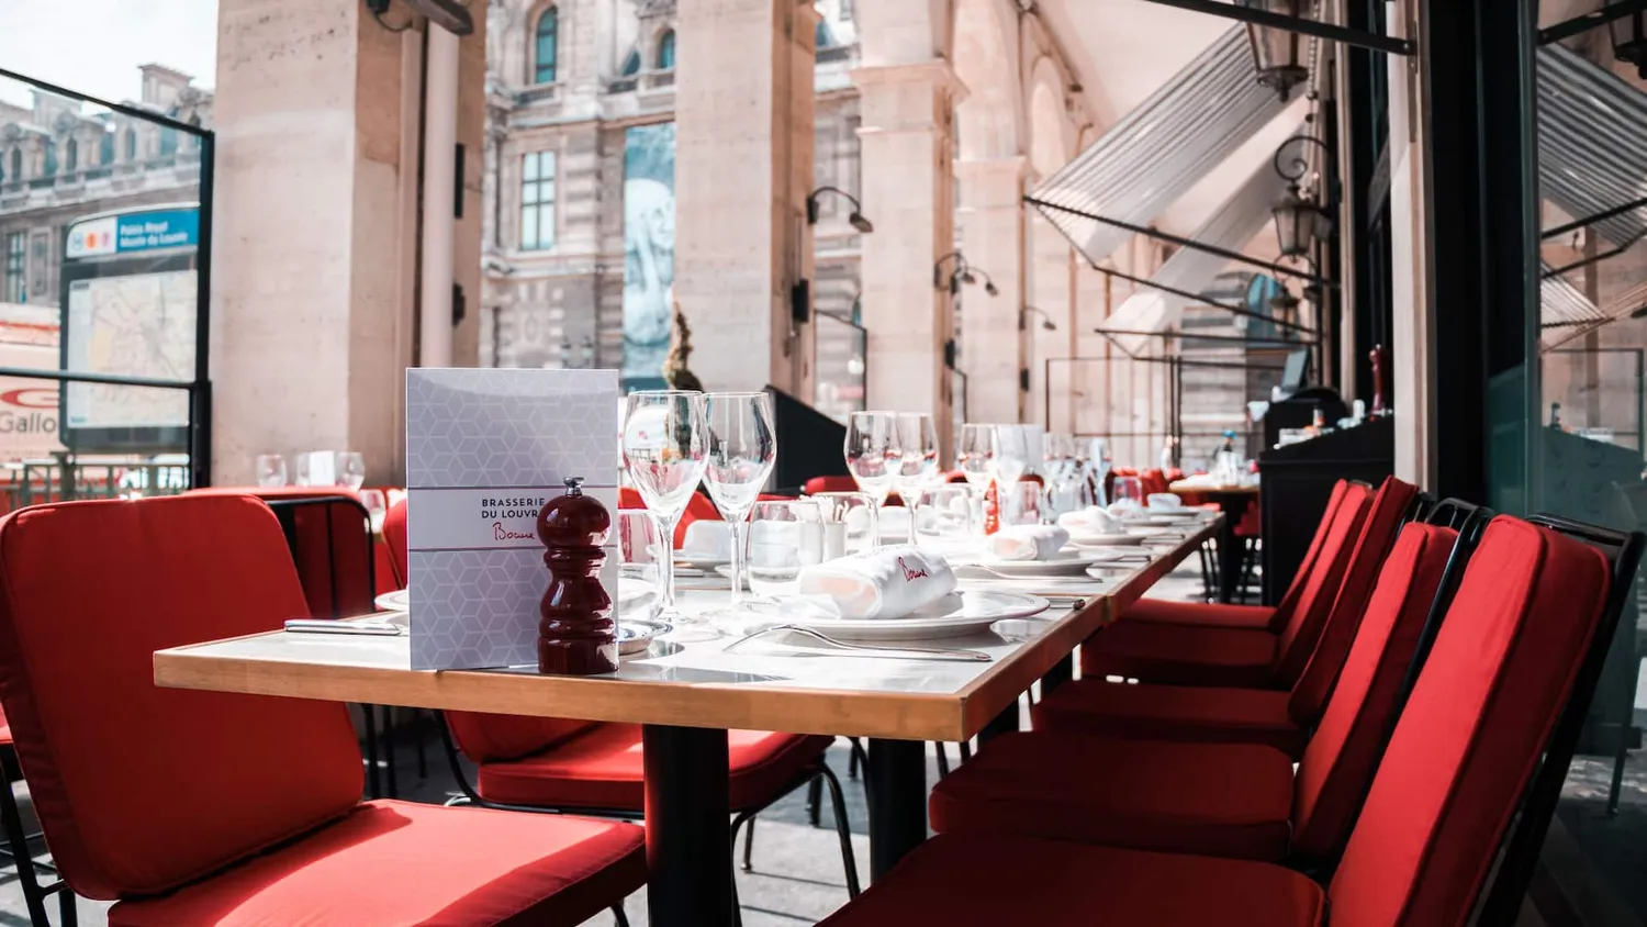
[[(76, 581), (94, 575), (96, 583)], [(0, 700), (69, 887), (158, 894), (348, 812), (339, 703), (158, 688), (153, 654), (306, 614), (244, 496), (59, 502), (0, 520)]]

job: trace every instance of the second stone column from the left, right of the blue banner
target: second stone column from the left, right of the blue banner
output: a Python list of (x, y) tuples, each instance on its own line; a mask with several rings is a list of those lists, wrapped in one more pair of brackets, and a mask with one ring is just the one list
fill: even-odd
[(692, 370), (707, 389), (772, 384), (812, 402), (812, 326), (791, 321), (791, 286), (812, 273), (817, 13), (680, 0), (677, 21), (675, 298)]

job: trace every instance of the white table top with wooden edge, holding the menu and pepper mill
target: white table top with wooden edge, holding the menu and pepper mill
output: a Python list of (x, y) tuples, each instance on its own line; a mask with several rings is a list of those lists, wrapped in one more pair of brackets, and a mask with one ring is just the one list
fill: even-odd
[[(540, 675), (535, 667), (432, 672), (408, 668), (407, 637), (275, 631), (160, 650), (155, 683), (590, 721), (962, 741), (1189, 557), (1217, 524), (1201, 522), (1183, 540), (1156, 545), (1148, 561), (1118, 563), (1110, 578), (1090, 581), (1080, 608), (1054, 604), (1031, 619), (1043, 629), (1028, 641), (982, 632), (924, 644), (985, 650), (990, 662), (805, 655), (766, 645), (726, 654), (731, 639), (723, 637), (659, 642), (604, 677)], [(1069, 585), (1046, 591), (1069, 596)], [(725, 593), (680, 594), (687, 611), (723, 599)]]

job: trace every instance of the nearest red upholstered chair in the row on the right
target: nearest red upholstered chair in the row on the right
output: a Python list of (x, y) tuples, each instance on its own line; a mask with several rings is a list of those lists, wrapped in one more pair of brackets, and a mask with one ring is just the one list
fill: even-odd
[(820, 927), (1456, 925), (1471, 919), (1495, 863), (1481, 922), (1507, 924), (1639, 545), (1634, 535), (1634, 555), (1612, 570), (1596, 548), (1551, 530), (1505, 517), (1487, 527), (1324, 891), (1247, 859), (957, 833), (914, 850)]

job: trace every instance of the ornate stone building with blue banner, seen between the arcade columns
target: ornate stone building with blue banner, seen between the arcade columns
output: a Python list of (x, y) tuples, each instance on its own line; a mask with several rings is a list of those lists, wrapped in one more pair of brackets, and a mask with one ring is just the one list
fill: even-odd
[[(819, 10), (815, 184), (856, 196), (851, 3)], [(674, 305), (674, 0), (491, 2), (483, 366), (657, 377)], [(858, 298), (850, 212), (819, 198), (814, 310), (835, 318), (819, 329), (812, 398), (825, 407), (861, 402), (861, 333), (840, 321)], [(856, 387), (837, 382), (853, 370)]]

